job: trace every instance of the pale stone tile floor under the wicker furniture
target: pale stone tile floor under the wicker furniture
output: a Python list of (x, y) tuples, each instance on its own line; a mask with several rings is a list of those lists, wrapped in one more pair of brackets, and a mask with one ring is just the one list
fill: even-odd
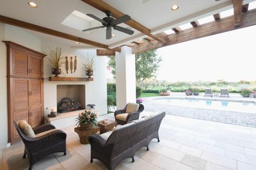
[[(101, 116), (111, 118), (113, 114)], [(67, 133), (67, 155), (56, 153), (45, 157), (33, 169), (106, 169), (94, 160), (90, 164), (90, 144), (80, 144), (74, 127)], [(171, 170), (255, 170), (256, 128), (166, 115), (159, 130), (161, 142), (154, 139), (145, 148), (123, 160), (116, 169)], [(28, 158), (22, 159), (22, 143), (3, 150), (0, 169), (28, 169)]]

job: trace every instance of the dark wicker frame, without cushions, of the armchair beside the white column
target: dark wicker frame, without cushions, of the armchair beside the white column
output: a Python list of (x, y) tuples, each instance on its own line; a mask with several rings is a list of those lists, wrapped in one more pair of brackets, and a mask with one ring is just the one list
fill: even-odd
[(115, 121), (116, 121), (117, 125), (125, 125), (126, 123), (129, 123), (129, 121), (138, 120), (139, 117), (140, 117), (140, 112), (142, 112), (142, 111), (144, 110), (144, 106), (143, 106), (142, 104), (140, 104), (140, 107), (139, 107), (138, 111), (137, 111), (137, 112), (131, 112), (131, 113), (129, 113), (125, 121), (116, 119), (116, 115), (117, 115), (117, 114), (123, 114), (123, 113), (125, 113), (125, 112), (126, 112), (126, 108), (127, 108), (127, 105), (125, 106), (124, 109), (116, 110), (116, 111), (114, 112)]

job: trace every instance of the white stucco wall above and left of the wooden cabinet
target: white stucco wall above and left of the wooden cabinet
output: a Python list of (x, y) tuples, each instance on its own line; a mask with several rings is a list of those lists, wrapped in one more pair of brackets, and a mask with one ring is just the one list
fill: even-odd
[[(30, 35), (19, 27), (0, 23), (0, 41), (12, 41), (33, 50), (41, 51), (41, 40)], [(8, 142), (7, 121), (7, 57), (6, 45), (0, 42), (0, 148), (5, 148)], [(1, 149), (0, 149), (1, 152)], [(0, 158), (1, 158), (0, 153)]]

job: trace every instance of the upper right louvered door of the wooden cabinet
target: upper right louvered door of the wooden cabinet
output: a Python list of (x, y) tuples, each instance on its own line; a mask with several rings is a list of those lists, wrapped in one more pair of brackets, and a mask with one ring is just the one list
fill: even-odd
[(43, 77), (43, 59), (37, 56), (30, 56), (30, 77)]

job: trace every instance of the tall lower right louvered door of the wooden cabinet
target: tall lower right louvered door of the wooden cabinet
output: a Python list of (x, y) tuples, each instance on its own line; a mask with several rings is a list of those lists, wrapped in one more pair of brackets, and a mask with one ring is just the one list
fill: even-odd
[(44, 120), (43, 115), (43, 81), (42, 80), (30, 80), (30, 118), (29, 124), (31, 127), (41, 125)]

